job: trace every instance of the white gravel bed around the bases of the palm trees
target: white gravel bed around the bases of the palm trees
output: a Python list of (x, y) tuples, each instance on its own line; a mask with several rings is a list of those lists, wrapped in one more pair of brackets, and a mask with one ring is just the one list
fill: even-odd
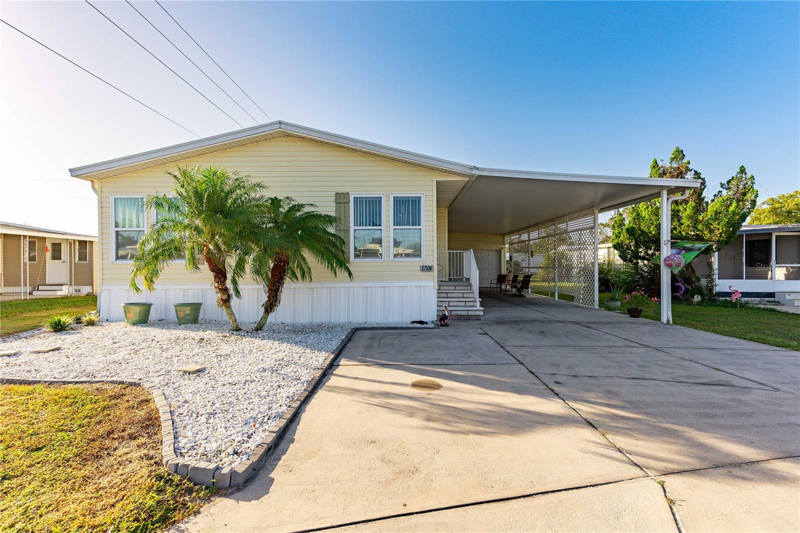
[[(378, 324), (269, 324), (259, 333), (233, 333), (228, 323), (163, 321), (29, 332), (0, 340), (0, 352), (22, 351), (0, 358), (0, 377), (150, 381), (170, 402), (176, 454), (234, 466), (262, 442), (350, 328), (359, 326)], [(61, 350), (31, 353), (53, 346)], [(206, 370), (178, 371), (190, 365)]]

